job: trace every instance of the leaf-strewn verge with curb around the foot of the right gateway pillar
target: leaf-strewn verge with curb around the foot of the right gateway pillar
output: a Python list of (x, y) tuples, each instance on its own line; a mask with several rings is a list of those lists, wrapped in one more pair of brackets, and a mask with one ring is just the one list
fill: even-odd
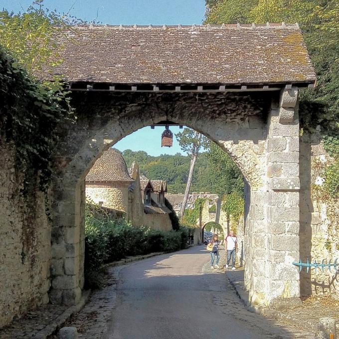
[[(251, 305), (249, 294), (244, 290), (243, 270), (229, 271), (225, 270), (225, 275), (234, 287), (238, 297), (241, 299), (248, 311), (260, 314), (262, 316), (276, 319), (284, 324), (295, 326), (306, 331), (316, 332), (319, 318), (332, 317), (338, 318), (338, 312), (334, 309), (328, 309), (321, 305), (298, 306), (291, 309), (275, 310), (265, 306)], [(337, 319), (337, 332), (339, 331), (339, 322)]]

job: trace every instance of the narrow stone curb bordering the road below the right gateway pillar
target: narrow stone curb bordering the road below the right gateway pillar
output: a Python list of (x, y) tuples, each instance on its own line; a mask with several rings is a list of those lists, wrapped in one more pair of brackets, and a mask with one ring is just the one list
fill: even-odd
[(300, 319), (294, 318), (293, 316), (289, 316), (285, 312), (269, 309), (265, 306), (252, 305), (249, 302), (249, 293), (246, 292), (243, 288), (243, 281), (237, 280), (232, 275), (232, 271), (225, 270), (225, 276), (230, 282), (230, 284), (234, 287), (237, 296), (240, 298), (240, 300), (243, 302), (244, 306), (249, 312), (253, 312), (267, 318), (276, 319), (282, 323), (297, 327), (305, 331), (309, 332), (311, 331), (314, 333), (316, 332), (318, 324), (314, 324), (313, 322), (307, 321), (303, 321), (301, 323)]

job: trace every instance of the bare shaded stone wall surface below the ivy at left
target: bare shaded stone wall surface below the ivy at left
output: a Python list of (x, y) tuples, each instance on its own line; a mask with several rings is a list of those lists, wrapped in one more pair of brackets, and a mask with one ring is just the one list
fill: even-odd
[[(0, 327), (37, 305), (48, 303), (51, 228), (45, 195), (36, 190), (27, 202), (16, 175), (13, 153), (0, 157)], [(33, 178), (32, 178), (33, 180)]]

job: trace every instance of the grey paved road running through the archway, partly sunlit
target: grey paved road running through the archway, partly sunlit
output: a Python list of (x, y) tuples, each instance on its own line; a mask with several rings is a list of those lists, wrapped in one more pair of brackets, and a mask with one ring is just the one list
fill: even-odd
[(314, 338), (246, 311), (208, 259), (198, 246), (124, 267), (106, 338)]

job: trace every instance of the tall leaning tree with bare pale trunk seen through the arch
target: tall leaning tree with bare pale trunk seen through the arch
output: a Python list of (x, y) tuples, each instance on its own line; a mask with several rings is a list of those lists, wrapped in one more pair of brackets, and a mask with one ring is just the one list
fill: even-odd
[(180, 145), (181, 150), (191, 156), (186, 189), (183, 195), (182, 204), (180, 208), (180, 218), (182, 220), (188, 200), (190, 186), (192, 183), (195, 163), (198, 158), (200, 146), (202, 143), (205, 142), (205, 139), (204, 137), (202, 137), (201, 133), (193, 131), (189, 128), (185, 128), (182, 132), (175, 134), (175, 137)]

